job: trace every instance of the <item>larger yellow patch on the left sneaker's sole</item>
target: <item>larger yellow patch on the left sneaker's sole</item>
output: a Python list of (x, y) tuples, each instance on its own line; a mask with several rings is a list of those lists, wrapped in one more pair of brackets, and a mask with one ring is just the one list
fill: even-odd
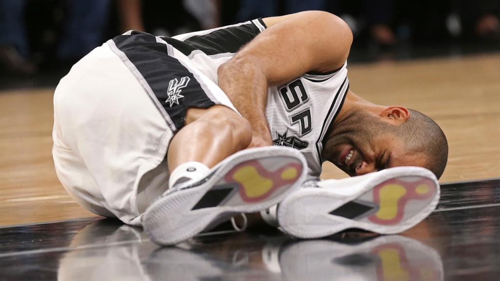
[(272, 188), (272, 180), (260, 176), (254, 166), (246, 165), (234, 172), (232, 178), (239, 182), (248, 197), (261, 196)]

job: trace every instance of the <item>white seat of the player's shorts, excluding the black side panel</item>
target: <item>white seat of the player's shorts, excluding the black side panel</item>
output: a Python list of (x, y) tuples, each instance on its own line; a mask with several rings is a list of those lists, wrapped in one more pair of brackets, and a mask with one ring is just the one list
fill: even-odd
[(68, 193), (92, 212), (140, 226), (168, 189), (162, 161), (173, 132), (108, 44), (61, 79), (54, 116), (55, 169)]

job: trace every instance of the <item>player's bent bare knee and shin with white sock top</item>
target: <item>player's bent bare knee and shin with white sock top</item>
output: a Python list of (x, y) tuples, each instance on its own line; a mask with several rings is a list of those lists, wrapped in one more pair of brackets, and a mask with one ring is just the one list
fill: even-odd
[[(234, 110), (223, 105), (189, 108), (186, 124), (170, 141), (167, 160), (170, 187), (196, 176), (248, 146), (251, 140), (250, 123)], [(179, 165), (187, 163), (187, 168)]]

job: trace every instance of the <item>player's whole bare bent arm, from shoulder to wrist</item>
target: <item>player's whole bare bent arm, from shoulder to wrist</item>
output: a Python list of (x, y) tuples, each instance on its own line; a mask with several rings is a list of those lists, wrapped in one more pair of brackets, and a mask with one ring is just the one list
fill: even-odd
[(343, 65), (352, 32), (339, 17), (305, 11), (263, 19), (264, 31), (217, 70), (219, 87), (252, 125), (250, 146), (271, 145), (264, 110), (269, 86)]

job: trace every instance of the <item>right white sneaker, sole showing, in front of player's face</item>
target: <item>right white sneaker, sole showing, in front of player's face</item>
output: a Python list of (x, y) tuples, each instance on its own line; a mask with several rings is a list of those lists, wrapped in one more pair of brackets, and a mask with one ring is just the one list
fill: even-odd
[(300, 238), (329, 236), (347, 228), (399, 233), (423, 220), (439, 200), (434, 174), (414, 166), (320, 180), (317, 185), (295, 191), (278, 205), (283, 231)]

